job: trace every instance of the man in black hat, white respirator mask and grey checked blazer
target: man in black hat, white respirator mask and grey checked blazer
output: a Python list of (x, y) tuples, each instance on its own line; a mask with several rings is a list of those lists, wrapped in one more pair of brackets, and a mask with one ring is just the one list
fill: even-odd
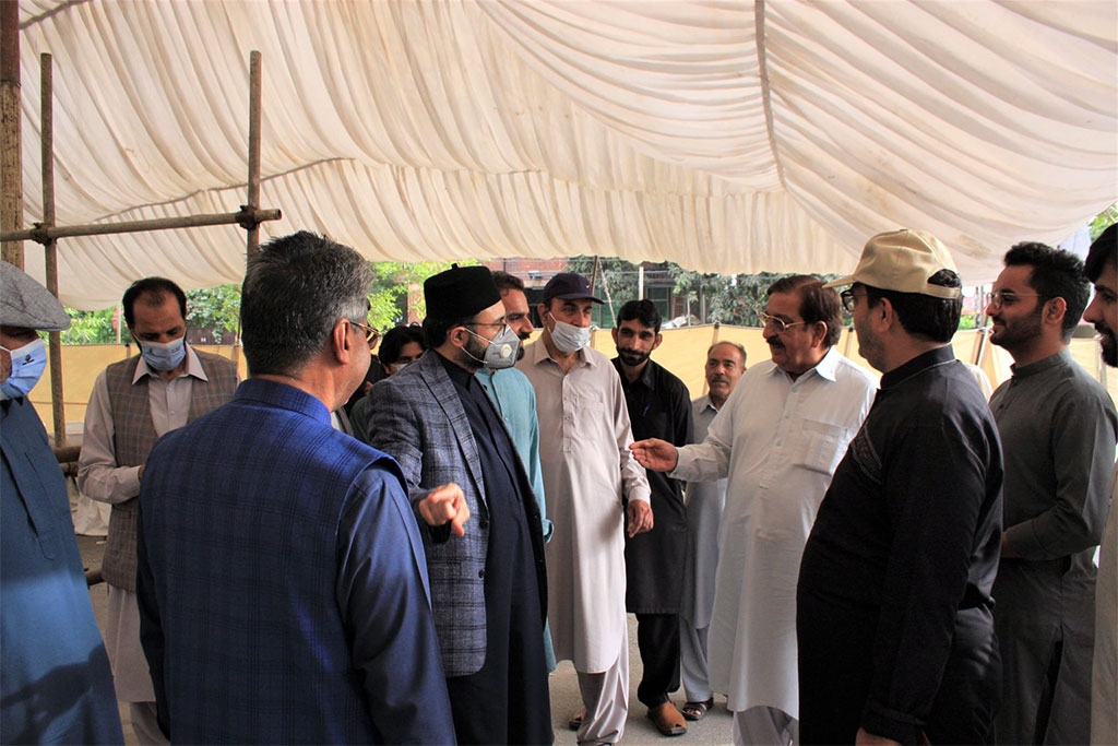
[(550, 744), (540, 511), (509, 431), (474, 376), (512, 366), (520, 340), (485, 267), (454, 266), (429, 277), (424, 295), (428, 351), (373, 387), (372, 445), (399, 461), (426, 528), (458, 742)]

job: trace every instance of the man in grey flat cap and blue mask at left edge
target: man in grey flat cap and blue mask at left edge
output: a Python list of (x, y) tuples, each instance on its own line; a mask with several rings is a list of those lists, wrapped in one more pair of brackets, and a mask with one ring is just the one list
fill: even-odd
[(47, 365), (37, 329), (69, 327), (47, 289), (0, 262), (0, 743), (121, 744), (108, 655), (69, 500), (28, 400)]

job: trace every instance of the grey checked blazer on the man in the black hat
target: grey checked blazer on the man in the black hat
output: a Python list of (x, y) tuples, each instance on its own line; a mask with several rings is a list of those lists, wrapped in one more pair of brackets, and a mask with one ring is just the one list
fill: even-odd
[[(498, 417), (499, 422), (502, 422)], [(416, 512), (432, 608), (447, 677), (476, 673), (485, 663), (485, 557), (489, 506), (477, 445), (458, 391), (438, 353), (428, 351), (406, 369), (378, 381), (369, 394), (370, 445), (395, 457), (404, 470), (413, 509), (437, 487), (454, 482), (470, 506), (466, 535), (428, 530)], [(510, 436), (511, 441), (512, 437)], [(527, 492), (541, 615), (547, 613), (547, 570), (539, 506), (519, 456), (513, 456)], [(529, 504), (530, 503), (530, 504)], [(541, 630), (542, 632), (542, 630)]]

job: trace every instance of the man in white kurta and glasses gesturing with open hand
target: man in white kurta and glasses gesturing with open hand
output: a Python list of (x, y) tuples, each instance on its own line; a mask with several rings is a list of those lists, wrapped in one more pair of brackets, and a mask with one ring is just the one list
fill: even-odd
[(729, 476), (709, 624), (710, 684), (727, 695), (737, 744), (799, 742), (799, 556), (874, 395), (873, 379), (835, 349), (842, 332), (835, 291), (817, 277), (792, 275), (767, 295), (759, 317), (773, 359), (741, 377), (707, 438), (681, 448), (655, 438), (633, 444), (646, 469), (691, 481)]

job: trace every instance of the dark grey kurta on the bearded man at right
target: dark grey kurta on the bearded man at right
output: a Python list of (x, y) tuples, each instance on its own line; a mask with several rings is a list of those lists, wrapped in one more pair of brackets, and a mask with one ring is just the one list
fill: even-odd
[(1002, 558), (993, 591), (1004, 682), (996, 738), (1033, 743), (1049, 651), (1062, 642), (1045, 740), (1087, 743), (1092, 555), (1107, 517), (1118, 416), (1067, 350), (1015, 367), (991, 409), (1004, 446), (1006, 541), (1021, 555)]

